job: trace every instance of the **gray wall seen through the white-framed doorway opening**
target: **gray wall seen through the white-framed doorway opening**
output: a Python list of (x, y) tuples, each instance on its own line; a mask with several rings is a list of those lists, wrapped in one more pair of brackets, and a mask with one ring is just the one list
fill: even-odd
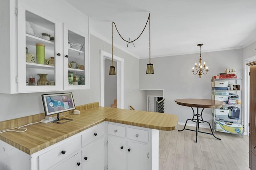
[(104, 106), (110, 107), (117, 99), (117, 62), (113, 61), (113, 66), (116, 68), (116, 75), (109, 75), (109, 67), (112, 61), (109, 59), (104, 60)]

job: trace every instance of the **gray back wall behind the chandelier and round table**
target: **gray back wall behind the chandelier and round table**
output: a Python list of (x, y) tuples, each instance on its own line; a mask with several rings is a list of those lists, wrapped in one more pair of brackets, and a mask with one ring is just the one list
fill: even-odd
[[(209, 72), (199, 78), (192, 74), (192, 67), (198, 63), (198, 54), (160, 57), (151, 59), (154, 64), (154, 74), (146, 74), (148, 59), (140, 60), (140, 89), (163, 89), (165, 98), (165, 113), (179, 116), (179, 122), (185, 123), (192, 118), (192, 109), (176, 104), (179, 98), (211, 99), (212, 76), (224, 72), (225, 68), (234, 67), (238, 78), (242, 77), (242, 49), (201, 53), (202, 60), (209, 67)], [(205, 121), (211, 122), (211, 109), (203, 113)], [(191, 123), (191, 122), (189, 122)]]

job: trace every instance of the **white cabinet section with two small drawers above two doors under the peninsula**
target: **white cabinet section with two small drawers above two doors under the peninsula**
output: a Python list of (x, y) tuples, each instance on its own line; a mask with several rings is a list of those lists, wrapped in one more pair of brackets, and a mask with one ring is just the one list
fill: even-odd
[(149, 137), (150, 129), (108, 124), (108, 169), (149, 170)]

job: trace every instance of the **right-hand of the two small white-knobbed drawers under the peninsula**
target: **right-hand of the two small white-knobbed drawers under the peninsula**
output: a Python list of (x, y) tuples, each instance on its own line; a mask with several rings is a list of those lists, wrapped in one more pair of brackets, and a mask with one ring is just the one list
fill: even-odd
[(148, 131), (142, 129), (127, 128), (127, 138), (148, 143)]

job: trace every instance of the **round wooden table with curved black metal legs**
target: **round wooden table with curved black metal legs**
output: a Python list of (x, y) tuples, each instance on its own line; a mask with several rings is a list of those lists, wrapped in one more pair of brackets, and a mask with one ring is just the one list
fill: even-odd
[[(223, 105), (225, 105), (225, 102), (221, 102), (218, 100), (210, 100), (210, 99), (176, 99), (174, 101), (179, 105), (191, 107), (193, 110), (193, 118), (187, 119), (184, 128), (182, 130), (178, 130), (178, 131), (183, 131), (184, 129), (186, 129), (186, 124), (187, 124), (188, 120), (191, 120), (193, 122), (196, 122), (196, 130), (192, 130), (192, 129), (186, 129), (186, 130), (196, 131), (196, 142), (197, 142), (198, 132), (213, 135), (216, 139), (221, 140), (220, 138), (218, 138), (214, 135), (210, 123), (208, 121), (204, 121), (204, 119), (202, 117), (202, 113), (205, 108), (220, 108)], [(196, 110), (197, 110), (196, 113), (195, 113), (193, 107), (196, 107)], [(198, 108), (203, 108), (201, 111), (201, 114), (198, 113)], [(195, 116), (196, 116), (196, 118), (195, 118)], [(199, 117), (201, 119), (199, 119)], [(199, 131), (199, 123), (208, 123), (212, 133)]]

